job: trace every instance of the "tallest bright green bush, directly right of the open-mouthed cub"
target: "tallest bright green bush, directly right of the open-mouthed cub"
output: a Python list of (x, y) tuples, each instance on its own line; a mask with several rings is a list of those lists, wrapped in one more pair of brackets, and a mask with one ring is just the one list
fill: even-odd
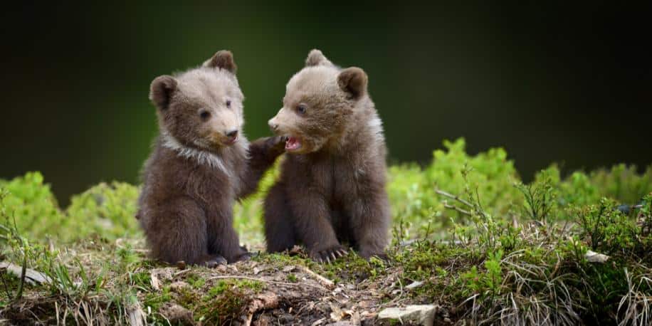
[(480, 198), (478, 204), (490, 209), (488, 212), (492, 214), (505, 213), (513, 204), (522, 202), (522, 196), (514, 187), (520, 179), (504, 149), (492, 148), (470, 156), (466, 154), (463, 138), (444, 141), (443, 146), (445, 149), (433, 152), (433, 161), (423, 169), (414, 164), (389, 169), (387, 191), (394, 219), (408, 223), (413, 231), (408, 230), (409, 234), (422, 235), (424, 229), (429, 229), (441, 237), (443, 234), (437, 230), (449, 226), (450, 216), (466, 218), (454, 211), (443, 215), (444, 203), (436, 189), (467, 201)]

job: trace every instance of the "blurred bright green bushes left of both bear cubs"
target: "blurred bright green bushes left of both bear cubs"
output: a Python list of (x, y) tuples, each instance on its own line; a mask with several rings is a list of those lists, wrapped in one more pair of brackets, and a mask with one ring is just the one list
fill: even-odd
[(3, 204), (10, 216), (9, 221), (0, 223), (13, 224), (15, 219), (19, 233), (28, 238), (42, 241), (50, 236), (58, 241), (73, 241), (95, 234), (114, 239), (138, 232), (136, 186), (121, 182), (98, 184), (73, 196), (65, 211), (58, 207), (39, 172), (0, 181), (0, 186), (9, 192)]

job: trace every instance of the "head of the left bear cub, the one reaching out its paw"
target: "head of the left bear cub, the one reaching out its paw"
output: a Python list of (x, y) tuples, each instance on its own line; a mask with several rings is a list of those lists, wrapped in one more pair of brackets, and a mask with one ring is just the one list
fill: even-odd
[(149, 99), (157, 107), (167, 142), (216, 152), (238, 142), (244, 96), (230, 51), (219, 51), (199, 68), (152, 81)]

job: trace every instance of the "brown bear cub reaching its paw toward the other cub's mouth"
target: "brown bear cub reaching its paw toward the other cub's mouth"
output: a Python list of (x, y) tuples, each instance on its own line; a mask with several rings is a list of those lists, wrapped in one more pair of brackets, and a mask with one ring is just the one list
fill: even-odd
[(137, 218), (153, 258), (214, 266), (248, 257), (233, 202), (256, 189), (283, 153), (280, 137), (249, 144), (231, 52), (152, 81), (159, 137), (144, 164)]

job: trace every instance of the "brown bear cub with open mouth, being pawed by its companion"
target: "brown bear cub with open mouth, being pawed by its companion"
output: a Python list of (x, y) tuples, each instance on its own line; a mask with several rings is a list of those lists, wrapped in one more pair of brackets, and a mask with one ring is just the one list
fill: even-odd
[(288, 137), (288, 155), (265, 198), (268, 251), (303, 243), (313, 259), (330, 262), (347, 241), (364, 258), (384, 256), (387, 149), (367, 74), (340, 69), (312, 50), (269, 125)]

